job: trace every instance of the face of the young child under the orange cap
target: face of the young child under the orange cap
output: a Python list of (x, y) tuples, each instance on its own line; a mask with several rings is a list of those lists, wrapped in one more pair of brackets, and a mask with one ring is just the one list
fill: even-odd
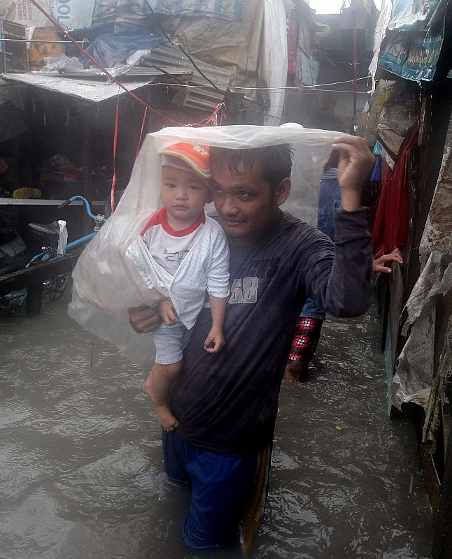
[(160, 198), (167, 215), (180, 226), (190, 226), (211, 201), (211, 191), (206, 182), (195, 173), (162, 166)]

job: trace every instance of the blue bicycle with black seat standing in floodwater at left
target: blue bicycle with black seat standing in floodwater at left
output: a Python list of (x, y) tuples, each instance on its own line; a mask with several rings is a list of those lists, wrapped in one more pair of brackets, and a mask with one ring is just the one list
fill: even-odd
[[(64, 237), (66, 222), (62, 222), (64, 224), (64, 229), (63, 227), (60, 227), (59, 222), (52, 222), (50, 224), (30, 223), (29, 228), (31, 228), (32, 231), (39, 233), (44, 237), (50, 238), (50, 245), (42, 247), (42, 252), (33, 256), (33, 258), (31, 258), (31, 260), (22, 268), (0, 276), (0, 312), (15, 309), (22, 312), (25, 304), (27, 303), (27, 299), (28, 303), (30, 303), (29, 299), (30, 295), (32, 295), (32, 298), (35, 299), (34, 303), (32, 303), (33, 310), (30, 310), (29, 312), (29, 307), (31, 307), (31, 305), (27, 305), (27, 314), (29, 316), (35, 316), (39, 313), (39, 310), (41, 309), (41, 300), (45, 296), (48, 296), (52, 301), (62, 298), (64, 292), (66, 291), (67, 282), (69, 276), (71, 275), (76, 257), (80, 254), (81, 249), (83, 249), (85, 245), (87, 245), (87, 243), (94, 237), (94, 235), (96, 235), (102, 224), (104, 224), (104, 222), (108, 219), (108, 217), (103, 214), (94, 215), (91, 211), (90, 203), (83, 196), (72, 196), (57, 206), (57, 211), (63, 210), (66, 206), (76, 200), (83, 202), (88, 217), (94, 221), (94, 231), (67, 244), (65, 242), (59, 242), (58, 250), (58, 247), (56, 246), (57, 238), (61, 241), (61, 237)], [(45, 265), (52, 262), (57, 265), (57, 261), (62, 261), (65, 256), (71, 256), (71, 262), (64, 263), (64, 266), (62, 266), (62, 268), (64, 268), (63, 273), (55, 273), (55, 275), (52, 275), (50, 279), (46, 278), (43, 279), (43, 281), (40, 281), (40, 279), (35, 281), (30, 279), (27, 286), (23, 286), (22, 289), (12, 289), (8, 293), (5, 292), (8, 289), (8, 285), (17, 286), (17, 284), (20, 284), (21, 278), (22, 283), (27, 282), (27, 277), (25, 276), (31, 275), (32, 270), (36, 268), (39, 268), (38, 276), (40, 278), (42, 275), (45, 275)], [(58, 266), (51, 267), (52, 270), (54, 268), (57, 270), (58, 268)], [(31, 270), (31, 272), (25, 272), (25, 270)], [(37, 297), (39, 300), (36, 300)]]

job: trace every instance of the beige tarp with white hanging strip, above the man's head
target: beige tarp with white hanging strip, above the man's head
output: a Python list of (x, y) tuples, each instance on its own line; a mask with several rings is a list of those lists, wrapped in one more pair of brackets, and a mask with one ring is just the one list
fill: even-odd
[(283, 0), (248, 0), (240, 21), (174, 15), (164, 25), (192, 57), (223, 68), (231, 89), (245, 87), (239, 91), (276, 117), (265, 124), (280, 124), (288, 65)]

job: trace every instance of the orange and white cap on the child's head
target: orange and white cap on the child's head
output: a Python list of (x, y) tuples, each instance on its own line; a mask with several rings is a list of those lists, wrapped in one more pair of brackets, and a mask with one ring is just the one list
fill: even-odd
[[(209, 145), (178, 142), (164, 147), (159, 154), (162, 156), (162, 165), (192, 170), (204, 180), (209, 180), (212, 176)], [(179, 161), (185, 165), (181, 166)]]

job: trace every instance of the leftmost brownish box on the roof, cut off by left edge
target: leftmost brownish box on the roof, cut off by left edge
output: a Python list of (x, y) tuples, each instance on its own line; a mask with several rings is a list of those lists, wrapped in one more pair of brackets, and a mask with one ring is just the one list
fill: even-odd
[[(3, 41), (22, 39), (22, 41)], [(0, 73), (28, 72), (25, 27), (19, 23), (0, 20)]]

